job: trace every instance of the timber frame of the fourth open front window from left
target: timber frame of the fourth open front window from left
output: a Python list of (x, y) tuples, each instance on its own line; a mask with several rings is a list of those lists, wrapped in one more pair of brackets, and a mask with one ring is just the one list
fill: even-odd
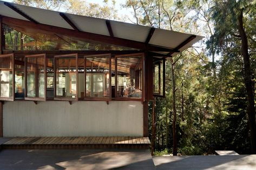
[[(108, 97), (88, 97), (87, 96), (87, 60), (88, 58), (108, 58), (108, 64), (106, 65), (109, 69), (108, 73), (106, 74), (106, 93), (108, 94)], [(93, 63), (91, 63), (93, 64)], [(100, 66), (100, 65), (99, 65)], [(93, 74), (93, 65), (91, 67), (91, 73), (88, 72), (88, 74), (91, 74), (91, 76), (95, 76)], [(100, 69), (99, 69), (100, 70)], [(102, 72), (102, 74), (104, 73), (104, 71)], [(108, 78), (107, 78), (107, 74), (108, 74)], [(91, 89), (94, 88), (94, 83), (96, 83), (96, 81), (94, 81), (93, 78), (91, 78), (93, 80), (93, 82), (89, 81), (91, 83)], [(108, 79), (108, 82), (107, 82)], [(107, 87), (107, 83), (108, 83), (108, 87)], [(104, 83), (102, 83), (104, 84)], [(107, 92), (108, 91), (108, 92)], [(91, 92), (90, 92), (91, 95)], [(103, 96), (104, 96), (104, 91), (103, 91)], [(107, 54), (102, 54), (102, 55), (88, 55), (88, 56), (84, 56), (84, 100), (100, 100), (100, 101), (110, 101), (111, 100), (111, 54), (107, 53)]]

